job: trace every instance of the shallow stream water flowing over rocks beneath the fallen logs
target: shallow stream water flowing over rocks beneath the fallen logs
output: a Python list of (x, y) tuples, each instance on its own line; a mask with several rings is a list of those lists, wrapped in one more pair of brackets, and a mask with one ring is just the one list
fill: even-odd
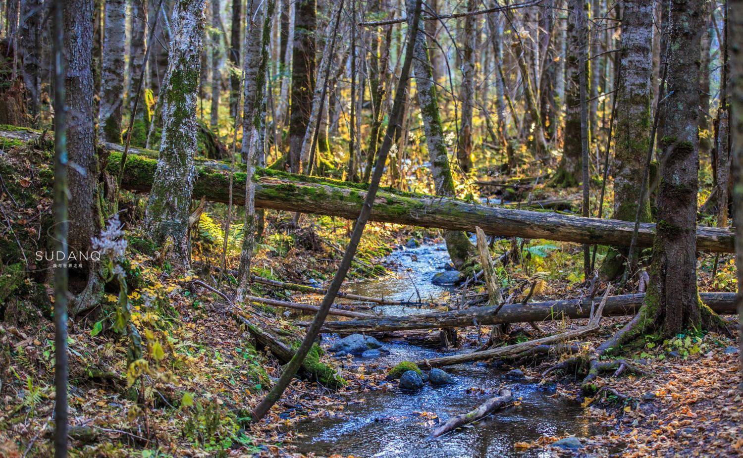
[[(444, 303), (452, 289), (431, 284), (436, 272), (449, 263), (443, 244), (398, 249), (389, 257), (397, 275), (349, 284), (345, 291), (368, 296)], [(417, 291), (416, 291), (417, 289)], [(416, 307), (378, 307), (387, 315), (426, 313)], [(329, 343), (334, 336), (325, 336)], [(385, 342), (389, 354), (377, 358), (355, 357), (354, 366), (392, 367), (405, 360), (442, 356), (453, 350), (430, 349), (403, 341)], [(348, 363), (345, 363), (348, 366)], [(335, 417), (300, 422), (294, 442), (300, 453), (317, 456), (340, 454), (355, 457), (548, 457), (542, 448), (517, 451), (516, 442), (531, 442), (539, 436), (575, 434), (589, 436), (599, 429), (580, 419), (577, 402), (553, 396), (554, 385), (514, 382), (504, 378), (504, 370), (489, 364), (461, 364), (447, 368), (455, 385), (432, 387), (426, 384), (417, 393), (371, 390), (349, 399), (348, 406)], [(503, 385), (510, 388), (520, 405), (507, 408), (469, 427), (460, 428), (438, 439), (426, 440), (435, 426), (432, 414), (446, 421), (484, 402)], [(474, 390), (473, 390), (474, 388)], [(422, 414), (423, 413), (423, 414)]]

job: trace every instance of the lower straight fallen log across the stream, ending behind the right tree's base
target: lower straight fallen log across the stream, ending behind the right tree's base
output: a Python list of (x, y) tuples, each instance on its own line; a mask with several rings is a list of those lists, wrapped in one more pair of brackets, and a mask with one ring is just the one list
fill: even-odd
[[(701, 300), (721, 315), (738, 313), (734, 292), (701, 292)], [(643, 304), (644, 294), (609, 296), (604, 316), (634, 315)], [(413, 329), (435, 329), (438, 327), (466, 327), (476, 324), (525, 323), (549, 321), (562, 318), (588, 318), (591, 311), (589, 299), (532, 302), (531, 304), (506, 304), (496, 315), (498, 306), (472, 307), (452, 312), (436, 312), (421, 315), (383, 316), (380, 318), (348, 321), (326, 321), (324, 333), (372, 333)], [(299, 326), (306, 323), (296, 323)]]

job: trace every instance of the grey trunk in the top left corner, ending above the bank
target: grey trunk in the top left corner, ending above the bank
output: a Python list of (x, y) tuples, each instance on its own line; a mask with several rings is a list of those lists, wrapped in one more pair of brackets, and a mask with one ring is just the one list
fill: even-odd
[(24, 0), (21, 4), (19, 33), (19, 59), (21, 76), (28, 93), (28, 113), (38, 122), (41, 114), (41, 63), (42, 63), (42, 19), (44, 4), (41, 0)]

